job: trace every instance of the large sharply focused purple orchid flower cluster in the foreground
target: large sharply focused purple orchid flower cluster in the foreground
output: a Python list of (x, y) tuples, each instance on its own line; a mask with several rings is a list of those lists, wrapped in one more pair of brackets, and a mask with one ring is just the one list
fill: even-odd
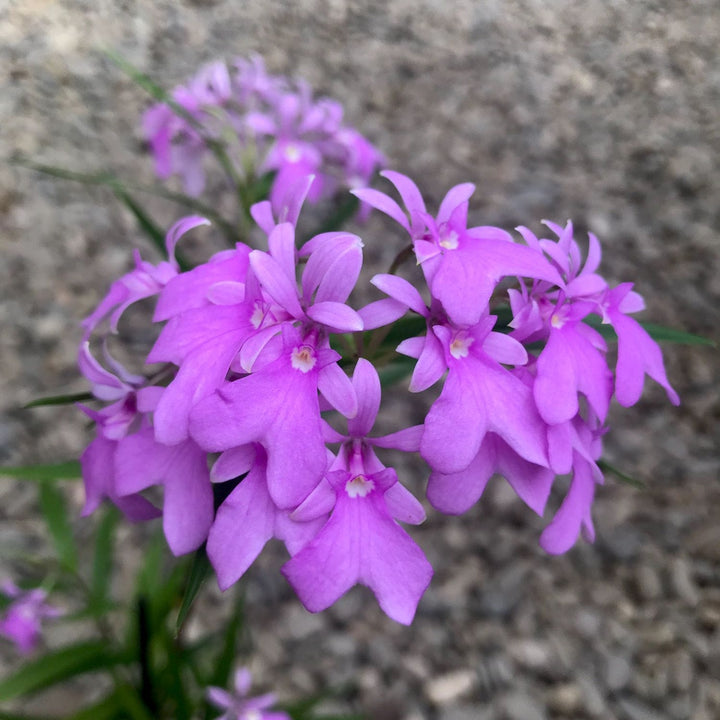
[[(359, 309), (348, 298), (360, 237), (335, 231), (297, 242), (312, 175), (279, 171), (270, 199), (252, 207), (265, 249), (239, 242), (181, 272), (177, 242), (207, 224), (192, 216), (168, 232), (167, 260), (153, 265), (136, 253), (135, 268), (83, 323), (80, 369), (104, 403), (83, 407), (96, 424), (81, 458), (85, 514), (107, 498), (130, 520), (161, 515), (172, 552), (204, 545), (222, 589), (278, 538), (290, 555), (282, 573), (308, 610), (363, 584), (404, 624), (433, 571), (400, 525), (421, 523), (425, 510), (383, 464), (386, 449), (419, 452), (427, 499), (448, 514), (468, 510), (498, 474), (543, 515), (555, 480), (569, 475), (540, 544), (563, 553), (580, 534), (593, 539), (612, 397), (636, 403), (649, 375), (679, 402), (660, 349), (630, 317), (641, 297), (597, 274), (598, 240), (590, 235), (583, 259), (570, 223), (547, 223), (554, 237), (543, 239), (519, 228), (516, 240), (467, 227), (470, 183), (451, 188), (433, 215), (412, 180), (383, 175), (404, 208), (371, 188), (353, 192), (407, 232), (422, 281), (375, 275), (386, 297)], [(130, 305), (151, 297), (159, 333), (146, 361), (161, 369), (132, 374), (107, 342), (100, 362), (91, 341), (104, 323), (115, 331)], [(363, 356), (373, 343), (362, 338), (407, 313), (425, 325), (397, 346), (416, 360), (409, 389), (442, 390), (421, 425), (377, 436), (381, 382), (376, 358)], [(614, 367), (603, 324), (618, 338)], [(151, 486), (163, 488), (161, 508), (144, 493)]]

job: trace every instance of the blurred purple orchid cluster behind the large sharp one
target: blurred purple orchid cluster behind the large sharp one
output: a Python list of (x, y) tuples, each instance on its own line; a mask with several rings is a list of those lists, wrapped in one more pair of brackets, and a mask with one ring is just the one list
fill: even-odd
[[(342, 105), (313, 98), (310, 86), (270, 75), (260, 57), (214, 62), (172, 92), (175, 107), (153, 105), (143, 133), (160, 178), (179, 175), (189, 195), (205, 187), (204, 161), (216, 142), (229, 145), (244, 183), (273, 173), (270, 199), (308, 175), (308, 201), (367, 185), (382, 154), (343, 123)], [(178, 112), (178, 109), (182, 112)]]

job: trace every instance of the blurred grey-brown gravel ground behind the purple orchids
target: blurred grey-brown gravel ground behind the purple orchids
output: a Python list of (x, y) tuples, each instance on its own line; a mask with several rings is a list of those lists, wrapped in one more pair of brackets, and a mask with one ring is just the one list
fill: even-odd
[[(0, 158), (149, 181), (146, 98), (100, 50), (167, 87), (259, 52), (339, 99), (431, 203), (472, 180), (478, 223), (572, 217), (603, 241), (605, 274), (636, 281), (646, 318), (718, 339), (719, 42), (714, 0), (4, 0)], [(361, 232), (370, 254), (399, 242), (380, 219)], [(128, 267), (133, 220), (102, 190), (2, 164), (0, 243), (0, 462), (72, 457), (87, 442), (76, 413), (17, 407), (82, 389), (77, 321)], [(262, 683), (344, 686), (338, 708), (377, 720), (720, 717), (717, 352), (665, 354), (683, 404), (648, 387), (613, 411), (607, 457), (648, 490), (608, 480), (594, 546), (544, 556), (539, 521), (498, 481), (413, 533), (436, 577), (409, 629), (362, 589), (306, 613), (270, 550), (247, 582)], [(38, 542), (29, 491), (3, 480), (0, 498), (3, 551)]]

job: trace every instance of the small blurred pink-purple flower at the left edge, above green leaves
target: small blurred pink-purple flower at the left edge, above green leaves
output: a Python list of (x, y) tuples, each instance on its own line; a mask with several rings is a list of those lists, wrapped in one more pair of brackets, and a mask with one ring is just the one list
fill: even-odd
[(0, 592), (12, 599), (0, 617), (0, 635), (14, 642), (18, 651), (27, 655), (40, 641), (42, 621), (60, 617), (63, 611), (45, 602), (47, 593), (41, 588), (21, 590), (11, 580), (5, 580), (0, 585)]

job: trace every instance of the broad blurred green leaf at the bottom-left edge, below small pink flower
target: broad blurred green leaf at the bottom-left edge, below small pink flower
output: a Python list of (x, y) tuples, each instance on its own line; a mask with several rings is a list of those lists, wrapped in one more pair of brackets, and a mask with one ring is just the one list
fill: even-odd
[(125, 661), (126, 658), (112, 653), (104, 642), (66, 646), (31, 660), (0, 681), (0, 702), (43, 690), (87, 672), (107, 670)]

